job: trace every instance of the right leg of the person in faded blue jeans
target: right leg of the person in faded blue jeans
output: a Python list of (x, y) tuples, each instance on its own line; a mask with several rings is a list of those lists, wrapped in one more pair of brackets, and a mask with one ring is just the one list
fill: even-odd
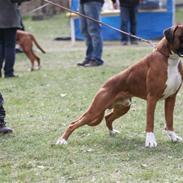
[[(102, 3), (99, 2), (89, 2), (84, 4), (85, 14), (95, 20), (99, 20), (100, 12), (102, 8)], [(101, 36), (100, 24), (92, 20), (87, 19), (87, 30), (92, 41), (92, 60), (94, 60), (97, 65), (103, 64), (102, 60), (102, 49), (103, 40)]]

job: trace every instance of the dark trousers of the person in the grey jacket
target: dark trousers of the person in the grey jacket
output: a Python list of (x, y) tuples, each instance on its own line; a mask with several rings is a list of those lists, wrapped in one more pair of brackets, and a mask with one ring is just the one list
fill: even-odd
[(14, 75), (15, 44), (16, 28), (0, 29), (0, 71), (4, 64), (5, 76)]

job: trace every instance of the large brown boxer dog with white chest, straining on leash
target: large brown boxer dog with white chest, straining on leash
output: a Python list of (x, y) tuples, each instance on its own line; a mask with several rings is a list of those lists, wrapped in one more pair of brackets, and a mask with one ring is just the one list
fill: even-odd
[(183, 68), (183, 25), (168, 28), (156, 49), (148, 56), (126, 70), (108, 79), (96, 93), (88, 110), (77, 120), (71, 122), (56, 144), (67, 144), (71, 133), (83, 125), (98, 125), (106, 109), (112, 111), (105, 115), (106, 126), (111, 135), (118, 131), (112, 126), (115, 119), (127, 113), (131, 98), (139, 97), (147, 101), (146, 147), (156, 147), (154, 135), (154, 112), (159, 100), (165, 101), (165, 130), (173, 142), (181, 141), (173, 128), (173, 111), (179, 91)]

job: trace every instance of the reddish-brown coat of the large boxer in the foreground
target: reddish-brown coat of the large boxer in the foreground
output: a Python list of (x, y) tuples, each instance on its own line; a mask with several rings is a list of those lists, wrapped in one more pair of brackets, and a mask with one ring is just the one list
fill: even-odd
[[(107, 80), (96, 93), (86, 113), (71, 122), (57, 144), (66, 143), (70, 134), (80, 126), (98, 125), (104, 117), (105, 110), (111, 108), (113, 110), (105, 116), (105, 120), (108, 129), (112, 131), (113, 121), (128, 112), (133, 96), (147, 100), (146, 132), (153, 132), (156, 103), (163, 98), (166, 88), (168, 59), (180, 45), (179, 37), (183, 34), (183, 26), (178, 26), (173, 34), (173, 43), (164, 37), (150, 55)], [(181, 62), (178, 70), (183, 79)], [(173, 110), (178, 90), (165, 99), (166, 129), (169, 131), (174, 130)]]

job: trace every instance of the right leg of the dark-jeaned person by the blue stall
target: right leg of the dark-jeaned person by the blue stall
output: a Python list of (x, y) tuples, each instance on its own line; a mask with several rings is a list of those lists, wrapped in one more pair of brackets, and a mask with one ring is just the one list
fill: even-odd
[[(136, 21), (136, 16), (137, 16), (137, 7), (132, 7), (130, 8), (130, 33), (133, 35), (136, 35), (136, 26), (137, 26), (137, 21)], [(135, 38), (130, 38), (131, 43), (136, 43)]]

